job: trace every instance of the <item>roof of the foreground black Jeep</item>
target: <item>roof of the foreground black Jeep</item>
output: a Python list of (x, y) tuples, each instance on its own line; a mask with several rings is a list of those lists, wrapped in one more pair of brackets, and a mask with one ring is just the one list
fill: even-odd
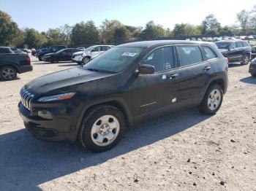
[(118, 47), (152, 47), (162, 46), (167, 44), (211, 44), (211, 42), (197, 42), (187, 40), (153, 40), (141, 42), (129, 42), (126, 44), (118, 45)]

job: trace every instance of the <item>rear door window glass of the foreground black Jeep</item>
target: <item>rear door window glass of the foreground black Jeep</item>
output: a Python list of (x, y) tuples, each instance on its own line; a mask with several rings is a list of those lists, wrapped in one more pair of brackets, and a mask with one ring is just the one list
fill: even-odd
[(177, 47), (178, 55), (181, 60), (181, 66), (187, 66), (193, 63), (200, 63), (203, 57), (199, 47), (182, 45)]

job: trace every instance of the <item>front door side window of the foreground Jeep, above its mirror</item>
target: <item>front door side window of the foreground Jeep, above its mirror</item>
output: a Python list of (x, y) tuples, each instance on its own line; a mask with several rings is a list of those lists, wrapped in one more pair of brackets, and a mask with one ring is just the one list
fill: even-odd
[(141, 64), (153, 65), (155, 72), (173, 69), (175, 67), (173, 47), (161, 47), (154, 50), (154, 52), (143, 59)]

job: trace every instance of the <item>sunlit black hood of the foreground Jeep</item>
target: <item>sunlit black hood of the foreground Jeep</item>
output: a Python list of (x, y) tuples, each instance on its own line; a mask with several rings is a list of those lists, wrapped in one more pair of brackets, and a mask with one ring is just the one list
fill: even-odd
[(78, 85), (83, 82), (90, 82), (95, 79), (102, 79), (110, 75), (113, 74), (89, 71), (82, 69), (81, 67), (75, 67), (62, 71), (56, 71), (52, 74), (38, 77), (37, 79), (34, 79), (26, 84), (25, 88), (29, 91), (31, 90), (31, 93), (34, 93), (36, 95), (44, 95), (49, 93), (50, 91), (60, 88), (65, 89), (65, 87), (68, 91), (68, 89), (70, 88), (69, 86), (71, 85)]

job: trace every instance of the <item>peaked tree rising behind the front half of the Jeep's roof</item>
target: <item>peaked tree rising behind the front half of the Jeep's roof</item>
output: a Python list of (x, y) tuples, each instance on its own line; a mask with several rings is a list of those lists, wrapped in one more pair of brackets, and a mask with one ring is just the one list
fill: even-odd
[(165, 36), (165, 29), (156, 25), (153, 20), (146, 23), (146, 28), (141, 32), (140, 39), (156, 39)]

